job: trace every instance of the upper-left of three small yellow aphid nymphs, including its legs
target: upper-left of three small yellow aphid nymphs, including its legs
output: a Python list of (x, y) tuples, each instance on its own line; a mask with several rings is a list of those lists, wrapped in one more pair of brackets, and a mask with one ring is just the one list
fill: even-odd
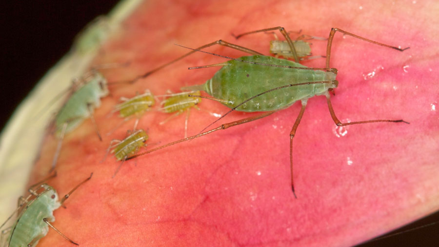
[(120, 98), (122, 103), (115, 106), (115, 109), (111, 112), (119, 111), (119, 116), (123, 118), (123, 121), (114, 127), (108, 134), (113, 133), (122, 123), (130, 120), (132, 117), (136, 117), (133, 130), (137, 128), (140, 117), (156, 103), (154, 95), (146, 89), (143, 94), (137, 94), (133, 98)]

